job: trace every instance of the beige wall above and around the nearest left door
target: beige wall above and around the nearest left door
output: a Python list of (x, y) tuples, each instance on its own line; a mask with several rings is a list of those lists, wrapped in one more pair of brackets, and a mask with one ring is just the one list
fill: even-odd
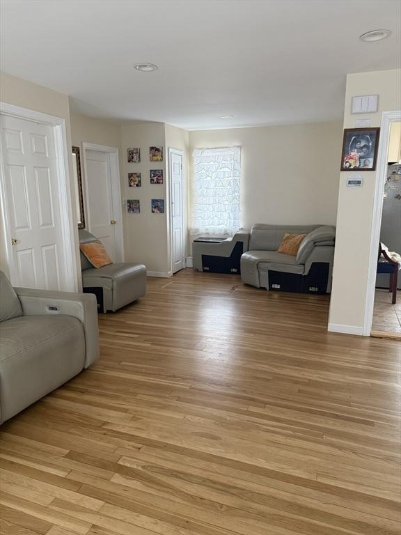
[[(53, 89), (49, 89), (44, 86), (38, 86), (32, 82), (28, 82), (22, 78), (17, 78), (0, 72), (0, 100), (13, 104), (15, 106), (33, 109), (40, 111), (43, 114), (53, 115), (56, 117), (65, 119), (65, 129), (67, 134), (68, 147), (71, 146), (71, 128), (70, 128), (70, 104), (68, 95), (64, 93), (58, 93)], [(70, 151), (68, 152), (68, 167), (70, 170), (70, 194), (71, 199), (75, 198), (74, 183), (72, 180), (72, 157)], [(74, 222), (77, 221), (77, 215), (75, 213), (74, 202), (71, 203), (71, 210)], [(3, 240), (3, 233), (1, 233), (1, 240)], [(3, 241), (0, 243), (0, 265), (1, 269), (8, 272), (6, 265), (6, 258), (4, 258)], [(78, 228), (77, 224), (74, 224), (74, 245), (77, 256), (77, 270), (81, 271), (79, 265), (79, 243), (78, 243)], [(81, 281), (79, 281), (81, 284)]]

